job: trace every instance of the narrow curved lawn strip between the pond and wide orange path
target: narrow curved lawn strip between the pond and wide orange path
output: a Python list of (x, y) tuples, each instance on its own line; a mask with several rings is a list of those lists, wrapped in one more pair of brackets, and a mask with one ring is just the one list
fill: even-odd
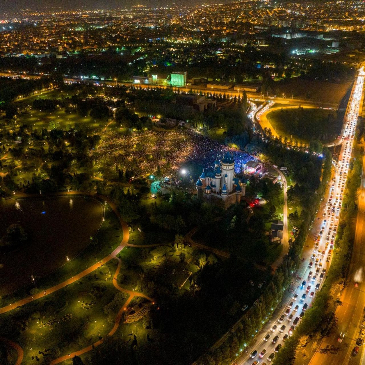
[[(72, 275), (82, 272), (84, 269), (92, 266), (102, 258), (110, 254), (119, 245), (123, 238), (123, 231), (120, 227), (119, 220), (114, 212), (108, 206), (105, 207), (105, 221), (96, 234), (98, 239), (97, 245), (88, 245), (77, 257), (70, 260), (65, 265), (56, 269), (49, 275), (39, 278), (37, 285), (40, 290), (50, 288), (58, 283), (62, 283)], [(31, 287), (19, 289), (7, 297), (3, 297), (1, 306), (20, 300), (29, 295), (28, 290)]]

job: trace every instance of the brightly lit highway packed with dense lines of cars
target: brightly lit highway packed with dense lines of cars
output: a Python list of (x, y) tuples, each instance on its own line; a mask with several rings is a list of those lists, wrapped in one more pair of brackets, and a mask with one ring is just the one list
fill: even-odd
[[(347, 110), (346, 124), (342, 132), (343, 143), (339, 161), (338, 164), (334, 164), (334, 175), (325, 196), (326, 203), (323, 210), (321, 208), (319, 211), (314, 228), (312, 229), (312, 234), (310, 235), (312, 239), (311, 245), (304, 253), (304, 257), (308, 258), (301, 263), (301, 267), (298, 270), (299, 277), (297, 276), (296, 279), (297, 286), (289, 288), (289, 290), (292, 290), (290, 299), (283, 303), (280, 311), (275, 312), (275, 316), (273, 316), (271, 322), (265, 324), (257, 335), (256, 341), (249, 347), (248, 353), (242, 355), (238, 359), (239, 364), (269, 364), (276, 355), (278, 345), (284, 345), (285, 339), (295, 331), (296, 324), (300, 322), (301, 316), (305, 315), (305, 311), (310, 308), (316, 292), (320, 290), (325, 279), (326, 271), (331, 263), (331, 255), (338, 228), (338, 218), (341, 212), (342, 197), (346, 184), (347, 171), (349, 169), (355, 127), (362, 100), (364, 76), (364, 68), (362, 67), (357, 76), (356, 86), (354, 87), (349, 101), (350, 105)], [(361, 219), (363, 220), (363, 218), (364, 216), (362, 216)], [(358, 222), (358, 224), (362, 225), (362, 221)], [(314, 240), (313, 237), (315, 238)], [(361, 238), (358, 239), (361, 241), (362, 238), (361, 230)], [(308, 250), (310, 250), (309, 253)], [(356, 256), (358, 256), (358, 260), (364, 260), (364, 263), (362, 263), (362, 267), (364, 267), (365, 256), (364, 258), (360, 258), (360, 255), (358, 254), (356, 254)], [(358, 268), (359, 264), (360, 263), (354, 264), (354, 266)], [(362, 285), (364, 285), (364, 287), (362, 287)], [(352, 285), (352, 288), (354, 288), (354, 285)], [(357, 293), (361, 292), (362, 295), (364, 295), (364, 290), (362, 289), (365, 289), (365, 280), (364, 284), (360, 283), (359, 287), (354, 288), (354, 290), (355, 289)], [(353, 301), (353, 291), (351, 291), (351, 294), (348, 296), (349, 303), (351, 303), (349, 305), (357, 308), (359, 307), (359, 304), (357, 305), (356, 300)], [(361, 311), (363, 311), (363, 304), (364, 303), (360, 305)], [(360, 317), (362, 319), (362, 314)], [(345, 339), (343, 342), (345, 342)], [(349, 346), (346, 347), (346, 349), (348, 349), (346, 356), (350, 356), (350, 353), (353, 350), (353, 347), (351, 349), (352, 344), (353, 343), (350, 342)], [(313, 364), (319, 365), (330, 363), (342, 364), (342, 362), (335, 361), (335, 357), (331, 359), (326, 358), (322, 362), (318, 362), (318, 364), (315, 362)]]

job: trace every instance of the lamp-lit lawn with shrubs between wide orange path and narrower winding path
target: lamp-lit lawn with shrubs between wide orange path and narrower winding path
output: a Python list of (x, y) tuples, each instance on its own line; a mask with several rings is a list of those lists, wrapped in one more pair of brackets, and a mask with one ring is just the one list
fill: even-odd
[[(43, 356), (38, 351), (55, 347), (60, 350), (56, 357), (63, 356), (80, 350), (109, 333), (116, 314), (123, 306), (122, 304), (115, 308), (110, 320), (103, 312), (103, 307), (110, 303), (118, 292), (111, 280), (116, 267), (117, 262), (114, 260), (80, 281), (29, 303), (13, 314), (13, 320), (28, 320), (27, 329), (20, 331), (17, 338), (24, 350), (26, 361), (30, 361), (31, 357), (36, 355), (42, 359)], [(106, 290), (97, 298), (89, 293), (96, 281), (103, 281), (106, 285)], [(125, 300), (127, 297), (126, 294)], [(84, 303), (88, 305), (84, 306)], [(11, 317), (8, 316), (5, 320), (11, 320)], [(47, 324), (52, 320), (55, 321), (54, 324)]]

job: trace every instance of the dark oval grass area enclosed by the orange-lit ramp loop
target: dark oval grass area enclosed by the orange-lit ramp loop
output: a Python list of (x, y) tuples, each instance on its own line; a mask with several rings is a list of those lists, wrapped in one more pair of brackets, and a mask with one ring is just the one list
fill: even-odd
[(284, 108), (269, 112), (267, 118), (279, 136), (305, 144), (311, 139), (333, 141), (342, 127), (342, 119), (333, 110)]

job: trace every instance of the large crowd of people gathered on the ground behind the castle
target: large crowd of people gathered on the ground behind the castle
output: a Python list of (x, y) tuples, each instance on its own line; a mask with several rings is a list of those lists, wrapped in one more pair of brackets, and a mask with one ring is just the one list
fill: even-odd
[(134, 177), (158, 171), (163, 177), (173, 178), (187, 165), (213, 168), (214, 161), (222, 158), (227, 150), (233, 155), (237, 173), (247, 161), (254, 159), (243, 151), (221, 145), (189, 129), (139, 131), (132, 136), (108, 133), (95, 154), (97, 163), (110, 168), (130, 169)]

